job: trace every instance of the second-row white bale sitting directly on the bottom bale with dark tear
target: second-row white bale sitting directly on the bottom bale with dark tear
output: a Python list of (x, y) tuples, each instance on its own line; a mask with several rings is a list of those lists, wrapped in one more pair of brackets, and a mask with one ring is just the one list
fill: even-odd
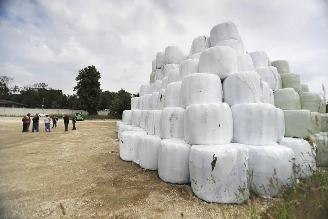
[(231, 143), (233, 117), (227, 103), (193, 104), (186, 108), (184, 137), (191, 145)]

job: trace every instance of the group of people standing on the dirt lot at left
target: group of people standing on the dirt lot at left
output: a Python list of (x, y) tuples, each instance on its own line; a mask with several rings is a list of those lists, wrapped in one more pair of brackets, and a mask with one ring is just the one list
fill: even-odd
[[(30, 127), (30, 124), (31, 124), (31, 114), (28, 113), (23, 119), (22, 119), (22, 122), (23, 122), (23, 133), (27, 133), (29, 132), (29, 127)], [(63, 116), (63, 119), (64, 119), (64, 126), (65, 126), (65, 130), (64, 131), (67, 131), (68, 129), (68, 124), (69, 124), (69, 121), (70, 121), (70, 118), (67, 114), (64, 114)], [(32, 132), (36, 131), (36, 132), (39, 132), (39, 113), (36, 113), (34, 115), (34, 117), (32, 118), (32, 121), (33, 121), (33, 125), (32, 125)], [(56, 115), (54, 115), (54, 117), (51, 119), (49, 115), (46, 115), (46, 117), (44, 118), (44, 126), (45, 126), (45, 132), (51, 132), (50, 130), (50, 122), (52, 121), (52, 128), (57, 128), (57, 121), (58, 121), (58, 118), (56, 117)], [(75, 123), (76, 123), (76, 118), (74, 117), (74, 115), (72, 115), (72, 124), (73, 124), (73, 128), (72, 130), (76, 130), (75, 128)]]

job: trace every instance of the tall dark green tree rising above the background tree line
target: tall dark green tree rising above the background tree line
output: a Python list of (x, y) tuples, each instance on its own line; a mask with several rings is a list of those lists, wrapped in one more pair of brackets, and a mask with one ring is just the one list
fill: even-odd
[(92, 65), (79, 70), (78, 82), (74, 87), (77, 91), (81, 108), (88, 112), (89, 115), (97, 115), (100, 105), (100, 72)]

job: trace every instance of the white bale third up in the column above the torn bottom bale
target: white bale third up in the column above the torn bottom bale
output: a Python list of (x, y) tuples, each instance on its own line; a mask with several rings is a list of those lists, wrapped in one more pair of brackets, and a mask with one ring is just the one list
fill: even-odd
[(181, 84), (181, 106), (222, 102), (222, 85), (217, 75), (193, 73), (183, 78)]

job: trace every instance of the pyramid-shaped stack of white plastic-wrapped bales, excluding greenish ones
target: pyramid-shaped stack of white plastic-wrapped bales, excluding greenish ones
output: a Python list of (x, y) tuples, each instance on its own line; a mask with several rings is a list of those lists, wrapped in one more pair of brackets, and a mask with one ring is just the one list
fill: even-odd
[[(312, 154), (311, 146), (284, 139), (284, 111), (273, 105), (279, 68), (269, 66), (264, 51), (245, 54), (235, 24), (226, 22), (210, 37), (195, 38), (189, 59), (182, 54), (175, 46), (157, 54), (157, 70), (176, 66), (166, 67), (172, 68), (167, 77), (157, 74), (159, 91), (141, 93), (142, 130), (126, 130), (138, 142), (142, 168), (158, 170), (165, 182), (191, 183), (197, 197), (219, 203), (245, 202), (249, 187), (265, 198), (277, 196), (294, 183), (295, 162), (296, 177), (311, 175), (315, 161), (295, 158)], [(124, 125), (119, 129), (128, 129)]]

